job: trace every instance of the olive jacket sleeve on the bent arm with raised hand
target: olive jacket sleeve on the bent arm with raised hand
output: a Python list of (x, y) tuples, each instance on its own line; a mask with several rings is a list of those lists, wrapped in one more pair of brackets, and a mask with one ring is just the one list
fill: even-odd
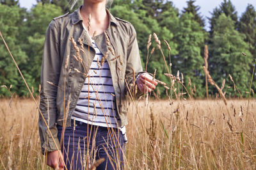
[[(137, 77), (140, 73), (143, 73), (140, 60), (140, 50), (136, 38), (136, 31), (132, 25), (130, 27), (129, 36), (129, 45), (127, 48), (127, 65), (125, 70), (125, 79), (128, 85), (132, 84), (132, 81), (134, 80), (133, 70), (135, 72), (135, 77)], [(128, 91), (127, 88), (130, 88), (131, 91), (134, 91), (134, 87), (125, 86), (125, 94), (127, 93), (126, 91)], [(138, 89), (136, 97), (140, 95), (143, 95), (143, 93)]]

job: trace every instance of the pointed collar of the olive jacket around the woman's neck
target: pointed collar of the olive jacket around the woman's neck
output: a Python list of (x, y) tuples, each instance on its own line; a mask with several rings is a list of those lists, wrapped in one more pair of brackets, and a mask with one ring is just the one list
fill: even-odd
[[(80, 13), (80, 9), (82, 6), (80, 6), (80, 8), (78, 8), (76, 11), (74, 11), (71, 14), (71, 20), (72, 20), (72, 24), (77, 24), (78, 22), (80, 22), (81, 20), (83, 20), (81, 13)], [(118, 21), (116, 20), (116, 18), (109, 12), (109, 10), (106, 8), (106, 12), (108, 13), (108, 17), (109, 17), (109, 24), (115, 24), (116, 26), (119, 26)]]

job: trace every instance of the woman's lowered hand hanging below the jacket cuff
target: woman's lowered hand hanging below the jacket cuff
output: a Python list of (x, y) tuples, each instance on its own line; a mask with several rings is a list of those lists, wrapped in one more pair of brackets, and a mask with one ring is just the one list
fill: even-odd
[(47, 166), (50, 166), (53, 169), (64, 170), (64, 162), (62, 162), (62, 160), (64, 160), (64, 158), (61, 151), (59, 152), (56, 150), (47, 152)]

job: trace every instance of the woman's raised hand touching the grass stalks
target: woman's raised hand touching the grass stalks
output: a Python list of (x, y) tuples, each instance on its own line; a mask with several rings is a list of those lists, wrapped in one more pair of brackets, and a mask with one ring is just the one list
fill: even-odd
[(142, 93), (151, 92), (157, 86), (156, 80), (153, 80), (153, 77), (148, 73), (141, 73), (136, 84)]

